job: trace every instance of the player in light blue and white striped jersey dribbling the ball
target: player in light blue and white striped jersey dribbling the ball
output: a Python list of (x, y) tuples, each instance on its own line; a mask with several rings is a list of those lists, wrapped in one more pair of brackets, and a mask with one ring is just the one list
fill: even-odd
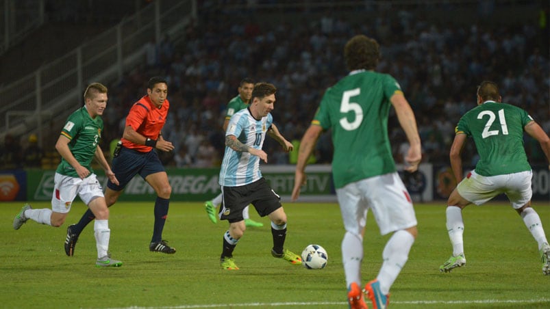
[(229, 230), (223, 235), (220, 257), (223, 269), (238, 269), (233, 251), (245, 233), (242, 209), (249, 204), (254, 206), (261, 217), (267, 215), (271, 220), (271, 254), (294, 265), (301, 265), (300, 256), (284, 249), (286, 213), (279, 196), (260, 172), (260, 159), (267, 163), (267, 154), (262, 150), (266, 134), (279, 142), (286, 152), (292, 150), (292, 144), (279, 131), (273, 131), (271, 111), (276, 91), (277, 88), (271, 83), (255, 84), (249, 107), (232, 116), (225, 132), (225, 154), (219, 178), (222, 192), (220, 219), (229, 221)]

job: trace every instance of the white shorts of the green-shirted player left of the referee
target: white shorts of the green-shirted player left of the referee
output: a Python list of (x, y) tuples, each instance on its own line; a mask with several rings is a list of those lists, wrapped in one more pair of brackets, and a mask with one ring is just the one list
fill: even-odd
[(82, 180), (56, 172), (53, 178), (53, 186), (51, 210), (55, 213), (68, 213), (71, 211), (71, 204), (73, 204), (77, 194), (86, 205), (90, 204), (95, 198), (103, 198), (103, 189), (101, 189), (95, 174), (91, 174)]

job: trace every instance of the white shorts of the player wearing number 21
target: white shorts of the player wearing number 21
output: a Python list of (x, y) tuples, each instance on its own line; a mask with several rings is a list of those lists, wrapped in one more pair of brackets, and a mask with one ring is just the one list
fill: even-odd
[(512, 207), (519, 209), (533, 196), (532, 177), (532, 171), (497, 176), (482, 176), (472, 171), (462, 179), (456, 189), (462, 198), (476, 205), (484, 204), (495, 196), (505, 193)]

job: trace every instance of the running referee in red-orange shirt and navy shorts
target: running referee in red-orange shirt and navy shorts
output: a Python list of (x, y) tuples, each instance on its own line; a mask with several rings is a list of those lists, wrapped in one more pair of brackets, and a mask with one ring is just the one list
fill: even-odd
[[(168, 83), (160, 77), (152, 77), (147, 83), (147, 95), (134, 103), (126, 117), (122, 146), (115, 154), (112, 168), (119, 183), (108, 181), (105, 200), (112, 206), (121, 196), (124, 187), (139, 174), (157, 193), (155, 200), (155, 223), (149, 251), (173, 254), (176, 250), (162, 239), (162, 230), (172, 187), (168, 175), (160, 162), (157, 150), (171, 151), (174, 146), (162, 138), (160, 133), (168, 115)], [(65, 253), (75, 254), (75, 245), (82, 230), (94, 219), (94, 214), (86, 211), (77, 224), (68, 226), (65, 239)]]

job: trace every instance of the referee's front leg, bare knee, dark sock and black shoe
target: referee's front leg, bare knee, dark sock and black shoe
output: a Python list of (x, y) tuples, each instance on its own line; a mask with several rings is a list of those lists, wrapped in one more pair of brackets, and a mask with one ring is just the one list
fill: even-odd
[(155, 224), (153, 226), (153, 237), (151, 238), (149, 250), (152, 252), (173, 254), (176, 252), (175, 248), (170, 247), (167, 242), (162, 239), (162, 231), (164, 230), (164, 224), (168, 216), (168, 206), (170, 205), (170, 196), (172, 193), (172, 187), (168, 182), (168, 175), (164, 171), (149, 174), (145, 177), (145, 181), (147, 181), (157, 193), (154, 209)]

